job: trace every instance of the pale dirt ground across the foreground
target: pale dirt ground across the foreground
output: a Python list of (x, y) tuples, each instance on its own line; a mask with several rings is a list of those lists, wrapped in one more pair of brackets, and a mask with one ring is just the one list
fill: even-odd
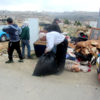
[(92, 72), (32, 76), (37, 59), (5, 64), (7, 54), (0, 56), (0, 100), (100, 100), (100, 82), (96, 68)]

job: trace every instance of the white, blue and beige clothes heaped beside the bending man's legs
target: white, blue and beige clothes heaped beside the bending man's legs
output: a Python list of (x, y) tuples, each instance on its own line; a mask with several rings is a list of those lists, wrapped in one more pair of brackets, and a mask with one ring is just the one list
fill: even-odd
[(66, 63), (65, 63), (65, 70), (71, 71), (71, 72), (90, 72), (91, 69), (87, 65), (81, 65), (81, 63), (78, 61), (76, 55), (74, 54), (73, 48), (67, 49), (66, 54)]

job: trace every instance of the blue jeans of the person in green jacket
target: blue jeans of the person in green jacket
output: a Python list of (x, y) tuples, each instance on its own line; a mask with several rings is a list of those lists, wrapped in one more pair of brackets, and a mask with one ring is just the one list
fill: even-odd
[(29, 40), (22, 40), (22, 56), (25, 57), (25, 46), (27, 47), (27, 57), (31, 57)]

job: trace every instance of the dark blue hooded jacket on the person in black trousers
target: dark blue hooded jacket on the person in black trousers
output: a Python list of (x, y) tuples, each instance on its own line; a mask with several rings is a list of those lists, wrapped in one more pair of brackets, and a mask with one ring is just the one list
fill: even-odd
[(16, 24), (11, 24), (8, 27), (4, 27), (3, 31), (9, 34), (11, 42), (18, 42), (20, 40), (19, 35), (21, 34), (21, 29)]

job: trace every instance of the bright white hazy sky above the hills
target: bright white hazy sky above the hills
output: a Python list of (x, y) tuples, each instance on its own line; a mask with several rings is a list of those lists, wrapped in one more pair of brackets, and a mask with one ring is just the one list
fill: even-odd
[(99, 11), (100, 0), (0, 0), (0, 10)]

